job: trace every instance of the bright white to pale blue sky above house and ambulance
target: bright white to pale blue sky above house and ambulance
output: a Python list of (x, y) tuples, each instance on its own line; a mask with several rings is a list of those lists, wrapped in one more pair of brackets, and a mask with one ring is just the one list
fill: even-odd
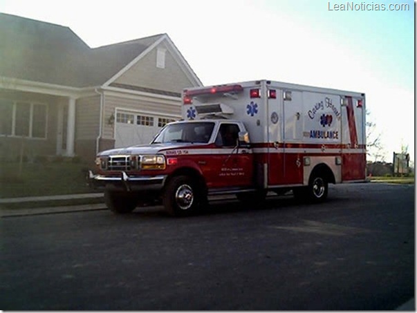
[(408, 147), (414, 161), (414, 1), (0, 0), (0, 12), (68, 26), (91, 48), (167, 33), (204, 85), (365, 93), (383, 147), (368, 160)]

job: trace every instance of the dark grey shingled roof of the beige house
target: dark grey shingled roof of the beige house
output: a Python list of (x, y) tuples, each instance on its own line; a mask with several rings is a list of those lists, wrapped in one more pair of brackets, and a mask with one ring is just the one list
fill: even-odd
[(0, 76), (71, 87), (100, 86), (164, 36), (90, 48), (66, 26), (0, 13)]

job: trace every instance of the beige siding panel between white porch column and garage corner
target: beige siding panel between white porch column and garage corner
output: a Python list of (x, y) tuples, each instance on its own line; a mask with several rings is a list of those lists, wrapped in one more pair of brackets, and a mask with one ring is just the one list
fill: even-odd
[(95, 139), (100, 129), (100, 96), (77, 99), (76, 140)]

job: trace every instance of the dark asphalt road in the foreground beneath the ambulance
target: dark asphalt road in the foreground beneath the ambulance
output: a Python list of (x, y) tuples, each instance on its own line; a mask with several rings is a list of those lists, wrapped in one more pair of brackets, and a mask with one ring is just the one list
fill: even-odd
[(0, 223), (0, 310), (392, 310), (414, 297), (414, 185), (338, 185), (322, 205), (216, 202), (190, 218)]

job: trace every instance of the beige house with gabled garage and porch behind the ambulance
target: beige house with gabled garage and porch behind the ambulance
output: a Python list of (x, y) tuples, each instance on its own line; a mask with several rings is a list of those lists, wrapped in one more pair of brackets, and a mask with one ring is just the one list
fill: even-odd
[(201, 86), (167, 34), (90, 48), (70, 28), (0, 13), (0, 158), (147, 143)]

